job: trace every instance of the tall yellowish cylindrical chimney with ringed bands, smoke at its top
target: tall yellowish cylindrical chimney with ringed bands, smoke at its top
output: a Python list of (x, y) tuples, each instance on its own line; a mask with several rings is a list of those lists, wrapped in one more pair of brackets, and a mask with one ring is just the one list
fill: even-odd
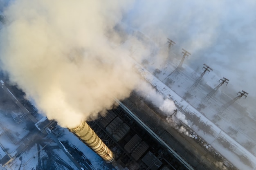
[(106, 162), (110, 163), (114, 160), (113, 152), (106, 146), (106, 144), (103, 143), (103, 141), (85, 121), (83, 121), (78, 127), (70, 129), (70, 131), (75, 133)]

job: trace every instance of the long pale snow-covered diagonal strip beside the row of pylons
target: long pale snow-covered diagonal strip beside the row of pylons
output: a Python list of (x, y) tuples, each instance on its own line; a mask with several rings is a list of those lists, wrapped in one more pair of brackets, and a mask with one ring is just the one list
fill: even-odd
[[(175, 82), (171, 86), (172, 89), (175, 89), (174, 91), (163, 82), (166, 77), (175, 69), (175, 66), (167, 63), (165, 67), (166, 69), (163, 69), (160, 74), (157, 74), (158, 78), (153, 75), (155, 71), (153, 65), (146, 67), (148, 70), (150, 70), (151, 73), (141, 65), (137, 64), (137, 66), (144, 79), (155, 86), (159, 93), (161, 93), (165, 98), (172, 99), (175, 104), (185, 113), (189, 113), (189, 117), (187, 116), (188, 126), (190, 126), (191, 129), (200, 135), (205, 141), (207, 141), (208, 144), (211, 144), (211, 146), (213, 146), (237, 168), (241, 170), (256, 169), (256, 157), (252, 155), (252, 153), (241, 146), (236, 140), (231, 138), (224, 130), (222, 130), (222, 128), (211, 122), (207, 116), (203, 115), (192, 106), (199, 104), (201, 102), (200, 99), (195, 98), (194, 101), (191, 101), (191, 104), (189, 104), (181, 97), (185, 94), (186, 91), (188, 91), (188, 88), (195, 81), (191, 78), (191, 76), (186, 76), (182, 72), (174, 77), (173, 80)], [(190, 70), (188, 71), (188, 69)], [(191, 68), (186, 68), (186, 73), (188, 72), (193, 73), (193, 70)], [(195, 77), (198, 77), (198, 73), (196, 73)], [(160, 79), (163, 82), (160, 81)], [(186, 82), (192, 83), (188, 84)], [(200, 93), (202, 93), (201, 96), (205, 96), (207, 94), (202, 91)], [(225, 126), (232, 124), (233, 122), (222, 120), (222, 122), (218, 123), (221, 124), (221, 127), (225, 128)], [(243, 135), (243, 133), (241, 133), (241, 138), (245, 139), (245, 135)]]

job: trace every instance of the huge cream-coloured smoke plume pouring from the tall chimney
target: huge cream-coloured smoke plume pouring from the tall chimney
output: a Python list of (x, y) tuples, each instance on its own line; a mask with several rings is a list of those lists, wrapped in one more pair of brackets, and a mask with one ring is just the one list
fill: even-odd
[(16, 0), (0, 31), (1, 67), (49, 119), (75, 127), (137, 84), (115, 27), (130, 1)]

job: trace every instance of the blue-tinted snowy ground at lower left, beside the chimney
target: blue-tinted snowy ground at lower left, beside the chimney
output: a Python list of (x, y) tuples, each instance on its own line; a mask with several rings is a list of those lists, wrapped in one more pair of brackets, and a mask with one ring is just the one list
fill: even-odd
[[(52, 136), (40, 132), (30, 119), (22, 114), (22, 105), (11, 100), (6, 91), (1, 90), (0, 103), (0, 159), (9, 155), (11, 162), (1, 167), (3, 170), (76, 170), (73, 161), (61, 150)], [(24, 110), (24, 109), (23, 109)], [(45, 120), (37, 114), (37, 120)], [(114, 170), (95, 152), (88, 148), (66, 128), (56, 126), (54, 132), (58, 140), (72, 154), (81, 167), (88, 170)], [(5, 161), (3, 161), (5, 163)], [(55, 168), (54, 168), (55, 167)], [(89, 167), (89, 168), (88, 168)]]

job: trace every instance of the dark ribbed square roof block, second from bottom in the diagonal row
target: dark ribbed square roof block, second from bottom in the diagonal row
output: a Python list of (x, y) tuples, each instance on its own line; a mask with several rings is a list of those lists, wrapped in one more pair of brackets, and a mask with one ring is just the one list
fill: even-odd
[(149, 146), (146, 142), (136, 134), (127, 142), (124, 149), (131, 153), (131, 156), (137, 161), (145, 152), (148, 150)]

